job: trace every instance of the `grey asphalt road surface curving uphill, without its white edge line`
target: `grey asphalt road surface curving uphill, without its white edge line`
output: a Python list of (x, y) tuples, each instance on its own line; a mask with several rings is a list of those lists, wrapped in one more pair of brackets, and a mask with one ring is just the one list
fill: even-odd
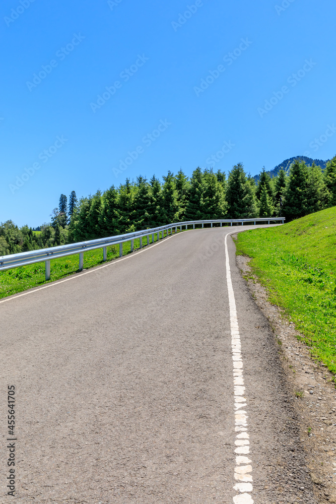
[[(11, 498), (6, 390), (12, 384), (18, 501), (232, 502), (234, 386), (223, 239), (232, 230), (238, 228), (183, 232), (0, 304), (1, 502)], [(316, 504), (274, 335), (236, 266), (231, 238), (228, 247), (252, 497), (255, 504)]]

